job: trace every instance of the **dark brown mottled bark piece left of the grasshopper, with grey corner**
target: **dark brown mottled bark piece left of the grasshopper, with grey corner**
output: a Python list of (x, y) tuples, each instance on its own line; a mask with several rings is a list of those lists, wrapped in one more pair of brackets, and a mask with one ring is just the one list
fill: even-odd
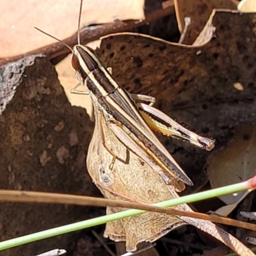
[[(51, 63), (43, 56), (29, 56), (0, 70), (0, 188), (95, 195), (85, 167), (93, 124), (84, 109), (70, 106)], [(95, 209), (90, 207), (1, 203), (0, 240), (92, 214)], [(72, 236), (52, 237), (0, 255), (36, 255), (72, 247)]]

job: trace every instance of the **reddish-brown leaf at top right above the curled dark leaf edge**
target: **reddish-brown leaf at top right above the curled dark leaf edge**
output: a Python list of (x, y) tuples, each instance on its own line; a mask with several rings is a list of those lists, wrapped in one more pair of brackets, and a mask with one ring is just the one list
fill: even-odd
[(213, 9), (236, 9), (232, 0), (175, 0), (175, 10), (180, 32), (184, 30), (185, 17), (191, 17), (191, 23), (184, 36), (183, 44), (193, 44), (209, 19)]

